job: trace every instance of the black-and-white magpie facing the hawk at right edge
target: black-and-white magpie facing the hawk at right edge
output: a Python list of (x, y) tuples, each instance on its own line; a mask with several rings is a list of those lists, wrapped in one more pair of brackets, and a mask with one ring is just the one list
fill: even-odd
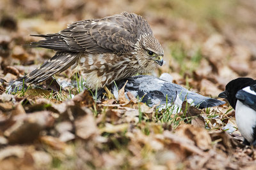
[(236, 110), (236, 123), (244, 145), (256, 145), (256, 80), (237, 78), (230, 81), (219, 97)]

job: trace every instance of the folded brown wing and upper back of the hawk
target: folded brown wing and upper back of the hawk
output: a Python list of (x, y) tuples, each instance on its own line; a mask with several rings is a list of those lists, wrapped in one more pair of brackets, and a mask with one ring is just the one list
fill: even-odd
[[(36, 35), (45, 40), (31, 46), (68, 52), (131, 52), (141, 34), (152, 34), (147, 21), (134, 13), (122, 13), (96, 20), (82, 20), (56, 34)], [(35, 36), (35, 35), (34, 35)]]

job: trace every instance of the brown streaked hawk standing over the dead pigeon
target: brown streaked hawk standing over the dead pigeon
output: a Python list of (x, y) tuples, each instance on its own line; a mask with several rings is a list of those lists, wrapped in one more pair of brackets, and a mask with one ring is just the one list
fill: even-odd
[(56, 54), (19, 79), (26, 83), (40, 83), (71, 66), (95, 90), (163, 65), (163, 48), (148, 22), (135, 13), (81, 20), (55, 34), (32, 36), (45, 39), (30, 46), (56, 50)]

